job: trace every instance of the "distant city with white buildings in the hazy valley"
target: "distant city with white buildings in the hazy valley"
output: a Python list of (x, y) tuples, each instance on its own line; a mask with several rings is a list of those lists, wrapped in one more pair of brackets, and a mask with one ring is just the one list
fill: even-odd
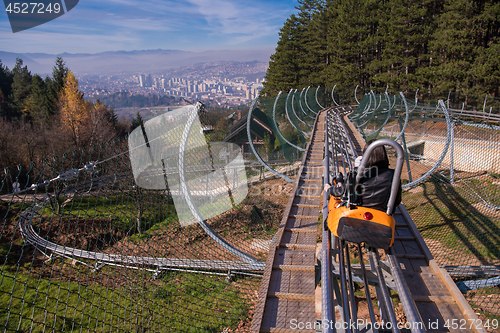
[(267, 63), (220, 61), (159, 71), (81, 75), (86, 98), (117, 92), (171, 95), (212, 105), (237, 106), (253, 100), (263, 88)]

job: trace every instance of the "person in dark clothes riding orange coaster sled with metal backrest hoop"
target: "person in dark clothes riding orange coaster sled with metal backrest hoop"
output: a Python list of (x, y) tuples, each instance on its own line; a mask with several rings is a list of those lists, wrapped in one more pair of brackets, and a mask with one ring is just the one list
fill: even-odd
[[(396, 150), (396, 168), (389, 169), (384, 145)], [(327, 224), (340, 239), (366, 243), (368, 247), (389, 249), (394, 243), (396, 222), (391, 216), (401, 202), (403, 149), (389, 139), (370, 141), (364, 149), (360, 166), (335, 177), (330, 194)]]

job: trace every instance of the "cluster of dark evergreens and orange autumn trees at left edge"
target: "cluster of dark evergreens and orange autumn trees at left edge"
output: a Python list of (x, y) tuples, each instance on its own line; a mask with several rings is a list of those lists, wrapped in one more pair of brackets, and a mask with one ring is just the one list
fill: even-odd
[[(112, 108), (83, 97), (60, 57), (52, 76), (44, 78), (32, 74), (21, 59), (12, 70), (0, 61), (0, 177), (12, 184), (31, 170), (31, 182), (39, 179), (47, 161), (126, 134), (127, 124), (118, 122)], [(28, 184), (26, 177), (17, 181)], [(2, 191), (11, 191), (10, 186)]]

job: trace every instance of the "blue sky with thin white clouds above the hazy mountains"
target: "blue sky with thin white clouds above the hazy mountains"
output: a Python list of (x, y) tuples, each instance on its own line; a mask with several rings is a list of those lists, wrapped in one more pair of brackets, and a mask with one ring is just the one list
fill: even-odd
[(2, 10), (0, 51), (273, 50), (296, 5), (296, 0), (80, 0), (67, 14), (17, 33)]

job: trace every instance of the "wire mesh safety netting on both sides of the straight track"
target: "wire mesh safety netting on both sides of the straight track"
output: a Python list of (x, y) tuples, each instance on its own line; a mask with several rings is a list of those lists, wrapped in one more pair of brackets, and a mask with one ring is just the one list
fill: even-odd
[[(352, 92), (258, 98), (225, 138), (209, 133), (197, 104), (127, 139), (5, 168), (1, 327), (248, 331), (291, 189), (259, 181), (293, 182), (316, 114), (356, 103)], [(366, 140), (401, 143), (404, 205), (471, 306), (498, 317), (499, 103), (437, 100), (369, 92), (350, 119)]]

